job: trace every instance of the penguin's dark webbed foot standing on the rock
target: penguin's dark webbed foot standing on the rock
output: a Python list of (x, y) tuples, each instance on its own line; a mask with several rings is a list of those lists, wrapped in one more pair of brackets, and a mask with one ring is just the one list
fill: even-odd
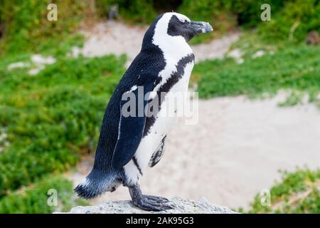
[(129, 187), (129, 193), (132, 197), (132, 204), (147, 211), (160, 212), (166, 209), (174, 209), (168, 204), (169, 199), (153, 195), (143, 195), (139, 185)]

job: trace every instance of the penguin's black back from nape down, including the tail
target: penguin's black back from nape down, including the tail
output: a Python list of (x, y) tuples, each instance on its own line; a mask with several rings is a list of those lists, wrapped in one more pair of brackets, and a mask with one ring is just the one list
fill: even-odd
[[(100, 137), (95, 152), (95, 163), (86, 179), (75, 187), (80, 197), (90, 199), (106, 191), (114, 191), (125, 179), (123, 168), (112, 167), (112, 155), (117, 144), (122, 94), (132, 86), (143, 86), (146, 81), (156, 81), (166, 65), (161, 49), (152, 43), (156, 23), (161, 14), (146, 31), (140, 53), (134, 58), (114, 90), (102, 120)], [(132, 126), (128, 126), (131, 128)]]

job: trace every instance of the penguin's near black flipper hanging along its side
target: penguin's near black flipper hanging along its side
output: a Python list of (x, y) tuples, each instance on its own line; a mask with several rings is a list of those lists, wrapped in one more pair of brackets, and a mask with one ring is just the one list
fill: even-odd
[[(144, 99), (144, 96), (146, 93), (151, 92), (151, 90), (154, 88), (154, 85), (154, 81), (149, 80), (148, 83), (144, 83), (144, 86), (134, 86), (134, 89), (130, 91), (134, 95), (136, 104), (134, 116), (124, 116), (122, 113), (124, 105), (128, 102), (128, 100), (122, 100), (120, 103), (118, 139), (112, 156), (112, 167), (115, 170), (127, 165), (139, 146), (144, 133), (144, 126), (146, 124), (146, 114), (144, 113), (144, 108), (146, 107), (148, 100)], [(143, 91), (140, 90), (142, 87)]]

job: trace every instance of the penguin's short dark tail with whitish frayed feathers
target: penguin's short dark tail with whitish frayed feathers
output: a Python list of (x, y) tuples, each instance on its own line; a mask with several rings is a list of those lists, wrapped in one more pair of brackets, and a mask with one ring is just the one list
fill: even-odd
[(79, 197), (92, 199), (105, 192), (114, 192), (121, 183), (116, 172), (92, 170), (74, 190)]

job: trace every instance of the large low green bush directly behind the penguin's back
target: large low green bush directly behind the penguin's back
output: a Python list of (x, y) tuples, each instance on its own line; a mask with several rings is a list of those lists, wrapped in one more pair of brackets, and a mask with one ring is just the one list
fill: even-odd
[(0, 64), (0, 126), (9, 142), (0, 153), (0, 197), (94, 149), (125, 59), (59, 57), (36, 76)]

